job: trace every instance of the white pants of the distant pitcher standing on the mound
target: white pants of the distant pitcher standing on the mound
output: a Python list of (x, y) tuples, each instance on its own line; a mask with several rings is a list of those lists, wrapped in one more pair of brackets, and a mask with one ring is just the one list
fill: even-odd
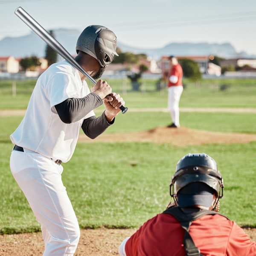
[(172, 122), (180, 127), (180, 96), (183, 92), (183, 86), (171, 86), (168, 87), (168, 109), (171, 113)]

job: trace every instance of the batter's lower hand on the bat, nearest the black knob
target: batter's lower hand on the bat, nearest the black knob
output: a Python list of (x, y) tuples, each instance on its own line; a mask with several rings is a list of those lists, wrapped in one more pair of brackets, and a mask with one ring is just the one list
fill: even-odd
[(125, 105), (125, 101), (119, 94), (109, 93), (108, 96), (103, 100), (106, 111), (105, 115), (110, 118), (114, 118), (119, 112), (121, 112), (120, 107)]

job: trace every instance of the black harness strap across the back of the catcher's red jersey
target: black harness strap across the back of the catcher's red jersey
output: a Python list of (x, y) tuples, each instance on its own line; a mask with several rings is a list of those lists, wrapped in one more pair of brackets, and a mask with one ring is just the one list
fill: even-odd
[[(215, 215), (219, 214), (215, 211), (209, 211), (204, 209), (195, 209), (193, 212), (185, 213), (180, 207), (170, 207), (166, 209), (163, 213), (170, 214), (177, 218), (180, 221), (181, 227), (185, 230), (184, 234), (184, 247), (186, 250), (186, 256), (203, 256), (200, 253), (198, 247), (195, 246), (195, 243), (192, 237), (189, 235), (189, 227), (192, 221), (204, 216), (204, 215)], [(225, 217), (225, 216), (224, 216)]]

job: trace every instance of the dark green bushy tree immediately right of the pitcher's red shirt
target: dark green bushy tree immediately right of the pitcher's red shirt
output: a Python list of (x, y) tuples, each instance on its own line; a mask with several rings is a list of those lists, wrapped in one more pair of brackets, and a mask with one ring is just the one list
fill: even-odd
[(199, 70), (198, 64), (187, 58), (179, 59), (180, 65), (183, 69), (183, 76), (191, 79), (192, 81), (198, 81), (201, 79), (202, 74)]

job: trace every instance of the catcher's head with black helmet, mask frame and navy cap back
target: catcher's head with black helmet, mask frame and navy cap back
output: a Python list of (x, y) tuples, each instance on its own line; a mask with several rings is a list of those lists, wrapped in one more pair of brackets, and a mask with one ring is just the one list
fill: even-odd
[(223, 196), (223, 179), (215, 160), (207, 154), (187, 154), (176, 166), (170, 183), (170, 195), (181, 207), (212, 205), (218, 210), (218, 200)]

